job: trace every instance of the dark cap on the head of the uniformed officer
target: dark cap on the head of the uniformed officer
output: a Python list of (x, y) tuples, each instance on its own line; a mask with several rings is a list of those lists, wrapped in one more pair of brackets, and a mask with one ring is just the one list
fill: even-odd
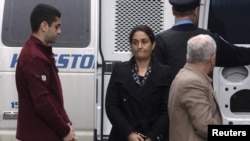
[(169, 0), (176, 11), (184, 12), (193, 10), (200, 5), (200, 0)]

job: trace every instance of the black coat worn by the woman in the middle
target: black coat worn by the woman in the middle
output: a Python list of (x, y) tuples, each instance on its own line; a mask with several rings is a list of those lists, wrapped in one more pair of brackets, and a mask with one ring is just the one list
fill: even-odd
[(169, 66), (152, 61), (152, 72), (140, 89), (132, 77), (130, 61), (117, 63), (107, 88), (105, 108), (112, 124), (110, 141), (127, 141), (131, 132), (168, 140), (167, 98), (171, 83)]

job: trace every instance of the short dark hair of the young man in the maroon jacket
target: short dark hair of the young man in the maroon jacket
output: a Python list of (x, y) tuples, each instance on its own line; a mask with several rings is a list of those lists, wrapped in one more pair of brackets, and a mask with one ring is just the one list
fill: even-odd
[(49, 26), (52, 22), (56, 21), (56, 18), (61, 18), (61, 13), (55, 7), (48, 4), (38, 4), (30, 15), (30, 24), (32, 33), (38, 31), (40, 24), (46, 21)]

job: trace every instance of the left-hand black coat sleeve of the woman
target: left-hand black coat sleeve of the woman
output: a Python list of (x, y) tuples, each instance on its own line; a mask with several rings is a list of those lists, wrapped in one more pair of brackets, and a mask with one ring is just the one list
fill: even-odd
[(134, 131), (134, 128), (129, 124), (120, 107), (121, 103), (118, 91), (119, 85), (116, 83), (116, 78), (118, 77), (117, 73), (120, 72), (117, 70), (120, 67), (119, 64), (120, 63), (117, 63), (113, 67), (106, 93), (105, 108), (107, 117), (113, 128), (119, 132), (121, 138), (127, 139), (128, 135)]

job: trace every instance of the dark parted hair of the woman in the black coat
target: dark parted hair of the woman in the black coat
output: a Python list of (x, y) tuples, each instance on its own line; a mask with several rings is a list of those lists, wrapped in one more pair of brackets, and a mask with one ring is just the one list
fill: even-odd
[(135, 32), (137, 31), (142, 31), (144, 33), (146, 33), (150, 39), (150, 41), (152, 43), (155, 42), (155, 34), (154, 34), (154, 31), (147, 25), (137, 25), (133, 28), (133, 30), (130, 32), (130, 35), (129, 35), (129, 43), (132, 44), (132, 40), (133, 40), (133, 36), (135, 34)]

